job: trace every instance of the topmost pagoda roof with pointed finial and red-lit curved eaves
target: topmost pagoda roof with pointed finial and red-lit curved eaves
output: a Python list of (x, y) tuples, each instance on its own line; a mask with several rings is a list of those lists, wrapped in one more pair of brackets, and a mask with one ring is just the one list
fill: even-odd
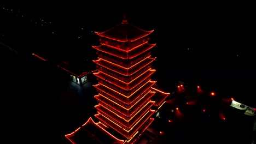
[(126, 17), (124, 16), (123, 21), (119, 25), (114, 26), (107, 31), (95, 33), (100, 37), (117, 40), (120, 42), (132, 42), (140, 38), (146, 37), (153, 31), (154, 30), (145, 31), (141, 28), (133, 26), (132, 24), (127, 22)]

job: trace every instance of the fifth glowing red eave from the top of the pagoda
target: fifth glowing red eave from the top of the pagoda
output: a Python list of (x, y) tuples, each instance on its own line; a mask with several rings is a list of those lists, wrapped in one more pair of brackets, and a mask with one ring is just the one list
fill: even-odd
[(111, 89), (111, 88), (104, 86), (100, 83), (98, 83), (97, 85), (94, 85), (94, 87), (96, 89), (98, 89), (98, 91), (100, 91), (100, 93), (107, 94), (107, 95), (109, 95), (109, 97), (117, 99), (124, 104), (130, 105), (133, 103), (133, 101), (135, 101), (139, 97), (142, 97), (142, 95), (144, 95), (145, 93), (150, 91), (150, 87), (152, 87), (155, 83), (156, 83), (156, 81), (148, 81), (142, 87), (137, 89), (136, 92), (130, 93), (128, 95), (121, 94), (118, 91), (114, 91), (114, 89)]

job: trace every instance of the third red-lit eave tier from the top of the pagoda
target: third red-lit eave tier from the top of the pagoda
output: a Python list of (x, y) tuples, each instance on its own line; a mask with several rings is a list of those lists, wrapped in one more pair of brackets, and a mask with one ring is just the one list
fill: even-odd
[(96, 61), (93, 61), (93, 62), (96, 63), (97, 65), (99, 65), (100, 67), (107, 68), (109, 70), (113, 70), (113, 71), (115, 71), (115, 73), (119, 73), (124, 76), (129, 76), (129, 75), (136, 73), (140, 69), (147, 67), (147, 65), (151, 64), (154, 60), (155, 60), (155, 58), (147, 57), (147, 58), (143, 59), (142, 61), (135, 63), (130, 68), (121, 67), (118, 64), (108, 62), (101, 58), (97, 59)]

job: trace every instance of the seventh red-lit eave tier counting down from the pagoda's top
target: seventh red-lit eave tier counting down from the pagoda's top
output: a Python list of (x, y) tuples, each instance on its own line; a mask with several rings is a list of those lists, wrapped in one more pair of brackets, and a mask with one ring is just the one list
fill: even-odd
[(104, 116), (111, 119), (115, 123), (121, 125), (121, 127), (125, 127), (127, 129), (131, 128), (133, 124), (135, 124), (139, 118), (141, 118), (150, 108), (154, 105), (154, 101), (149, 101), (147, 104), (143, 105), (143, 107), (135, 113), (134, 116), (130, 117), (130, 119), (125, 119), (117, 115), (117, 113), (108, 109), (108, 107), (104, 107), (102, 105), (96, 105), (95, 108)]

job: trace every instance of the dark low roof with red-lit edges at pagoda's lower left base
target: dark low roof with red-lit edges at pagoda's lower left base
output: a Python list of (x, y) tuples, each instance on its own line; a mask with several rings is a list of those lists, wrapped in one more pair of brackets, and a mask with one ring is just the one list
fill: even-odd
[(99, 123), (95, 123), (91, 117), (82, 127), (65, 136), (74, 144), (88, 143), (89, 140), (94, 141), (94, 143), (124, 143), (124, 140), (119, 140), (108, 133)]

